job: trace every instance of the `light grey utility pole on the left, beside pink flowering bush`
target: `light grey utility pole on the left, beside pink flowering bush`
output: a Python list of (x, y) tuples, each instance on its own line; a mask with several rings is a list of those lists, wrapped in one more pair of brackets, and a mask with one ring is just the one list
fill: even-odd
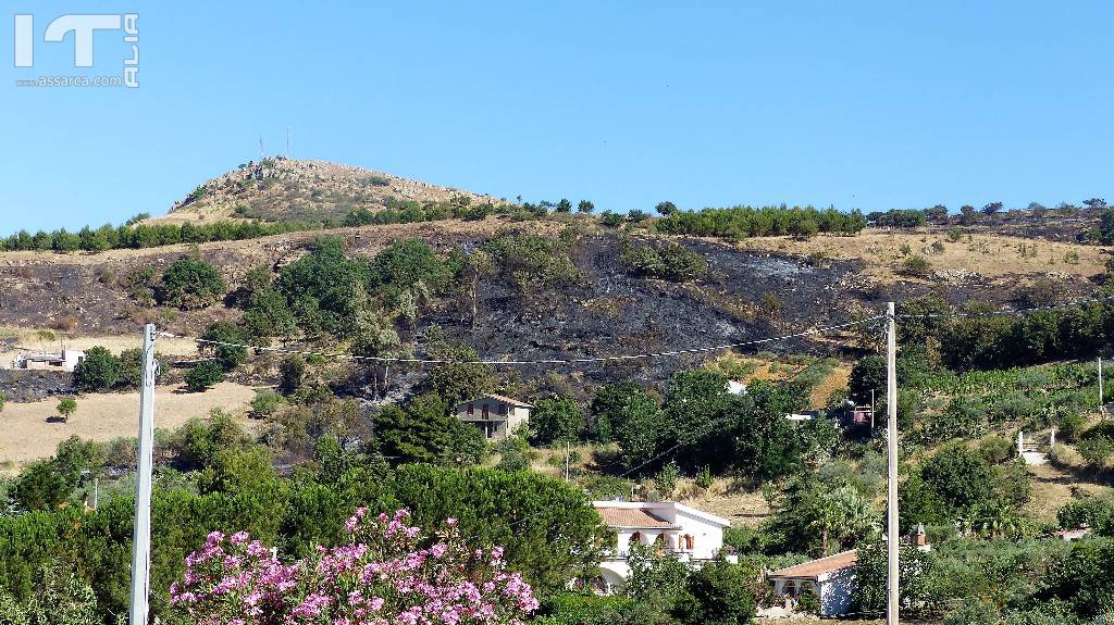
[(136, 454), (136, 518), (131, 534), (131, 607), (128, 625), (147, 625), (150, 586), (150, 472), (155, 435), (155, 325), (143, 336), (143, 381), (139, 386), (139, 447)]

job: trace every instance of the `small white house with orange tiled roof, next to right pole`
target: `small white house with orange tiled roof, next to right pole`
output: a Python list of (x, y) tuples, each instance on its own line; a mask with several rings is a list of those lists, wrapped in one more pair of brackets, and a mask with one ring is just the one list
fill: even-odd
[(795, 607), (811, 589), (820, 599), (820, 616), (839, 616), (851, 607), (857, 559), (858, 552), (852, 549), (774, 571), (766, 579), (773, 582), (773, 592), (784, 598), (785, 607)]

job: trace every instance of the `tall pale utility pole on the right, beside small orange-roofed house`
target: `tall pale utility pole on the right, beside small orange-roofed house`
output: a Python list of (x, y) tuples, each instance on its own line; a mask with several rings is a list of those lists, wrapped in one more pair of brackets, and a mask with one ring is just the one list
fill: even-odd
[(891, 301), (886, 310), (886, 448), (888, 460), (888, 484), (886, 489), (886, 524), (889, 544), (888, 585), (886, 601), (887, 625), (898, 625), (898, 607), (901, 595), (898, 592), (898, 554), (901, 546), (898, 540), (898, 368), (897, 368), (897, 331), (896, 309)]

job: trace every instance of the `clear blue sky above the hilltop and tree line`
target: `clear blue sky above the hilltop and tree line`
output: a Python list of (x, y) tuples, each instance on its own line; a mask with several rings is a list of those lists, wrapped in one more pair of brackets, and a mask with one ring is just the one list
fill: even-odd
[[(1108, 2), (202, 4), (7, 3), (0, 230), (165, 212), (287, 125), (295, 158), (618, 211), (1114, 199)], [(90, 71), (42, 30), (100, 12), (139, 14), (138, 89), (16, 87)]]

